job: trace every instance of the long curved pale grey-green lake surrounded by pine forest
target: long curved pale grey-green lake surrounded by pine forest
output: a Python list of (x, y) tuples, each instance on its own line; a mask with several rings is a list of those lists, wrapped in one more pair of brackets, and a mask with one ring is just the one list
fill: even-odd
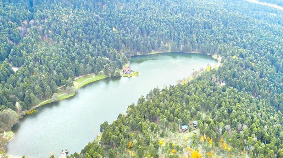
[(104, 121), (112, 123), (141, 95), (157, 86), (162, 89), (164, 85), (175, 85), (193, 69), (217, 63), (210, 55), (191, 53), (139, 55), (129, 61), (138, 76), (109, 77), (90, 83), (74, 97), (40, 106), (36, 113), (20, 119), (14, 138), (7, 144), (8, 155), (49, 158), (60, 156), (66, 149), (80, 153), (100, 134), (99, 126)]

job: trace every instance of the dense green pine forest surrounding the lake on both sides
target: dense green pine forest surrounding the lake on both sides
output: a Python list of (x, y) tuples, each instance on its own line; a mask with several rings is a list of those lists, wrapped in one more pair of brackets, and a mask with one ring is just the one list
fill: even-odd
[[(279, 9), (234, 0), (3, 0), (0, 23), (3, 129), (76, 76), (113, 76), (136, 54), (197, 51), (218, 54), (222, 66), (154, 88), (69, 157), (283, 157)], [(168, 140), (191, 120), (199, 135)]]

